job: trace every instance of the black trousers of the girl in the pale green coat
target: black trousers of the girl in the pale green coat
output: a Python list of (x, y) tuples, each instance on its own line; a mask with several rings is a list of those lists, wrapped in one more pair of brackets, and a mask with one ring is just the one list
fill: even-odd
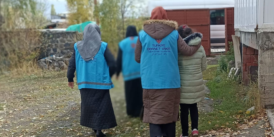
[(181, 125), (182, 125), (182, 136), (188, 136), (188, 114), (190, 111), (191, 118), (191, 130), (198, 130), (199, 113), (197, 103), (194, 104), (180, 104), (181, 107)]

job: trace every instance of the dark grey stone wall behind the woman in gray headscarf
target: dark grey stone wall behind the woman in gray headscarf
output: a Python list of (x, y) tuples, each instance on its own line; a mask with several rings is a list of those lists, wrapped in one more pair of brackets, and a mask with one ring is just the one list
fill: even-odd
[(82, 40), (83, 34), (78, 31), (41, 31), (42, 50), (40, 58), (51, 55), (63, 56), (73, 52), (74, 43)]

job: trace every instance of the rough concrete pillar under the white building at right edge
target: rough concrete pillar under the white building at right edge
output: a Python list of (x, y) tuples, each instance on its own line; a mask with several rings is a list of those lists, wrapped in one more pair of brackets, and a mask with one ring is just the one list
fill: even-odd
[(274, 32), (258, 34), (259, 89), (265, 108), (274, 108)]

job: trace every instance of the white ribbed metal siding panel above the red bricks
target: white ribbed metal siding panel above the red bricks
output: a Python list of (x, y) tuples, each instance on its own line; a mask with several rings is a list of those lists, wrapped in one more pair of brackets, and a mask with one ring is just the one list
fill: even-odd
[(234, 28), (254, 31), (256, 26), (257, 0), (235, 0)]

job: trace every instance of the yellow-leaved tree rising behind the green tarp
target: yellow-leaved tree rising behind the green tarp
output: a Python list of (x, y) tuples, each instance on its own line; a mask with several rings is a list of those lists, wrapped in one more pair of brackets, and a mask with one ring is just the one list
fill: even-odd
[(67, 0), (69, 24), (78, 24), (93, 19), (93, 5), (90, 0)]

